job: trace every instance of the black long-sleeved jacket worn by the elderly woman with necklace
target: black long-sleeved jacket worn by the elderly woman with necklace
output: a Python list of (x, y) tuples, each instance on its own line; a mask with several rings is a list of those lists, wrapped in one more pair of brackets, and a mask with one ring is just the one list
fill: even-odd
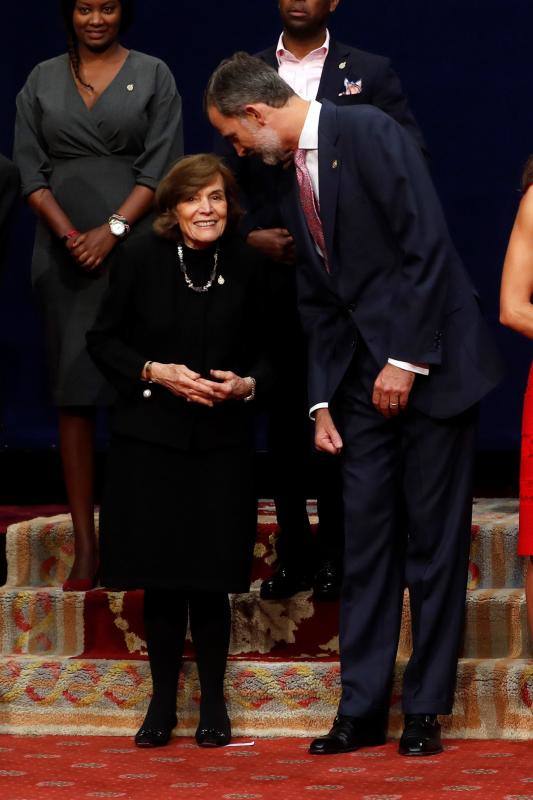
[(232, 370), (267, 393), (273, 373), (267, 355), (269, 301), (255, 250), (239, 238), (221, 244), (219, 274), (206, 294), (185, 286), (174, 242), (153, 233), (120, 245), (98, 319), (87, 334), (89, 352), (117, 389), (115, 433), (181, 450), (250, 443), (255, 402), (214, 408), (187, 403), (140, 375), (147, 360), (185, 364), (209, 377)]

